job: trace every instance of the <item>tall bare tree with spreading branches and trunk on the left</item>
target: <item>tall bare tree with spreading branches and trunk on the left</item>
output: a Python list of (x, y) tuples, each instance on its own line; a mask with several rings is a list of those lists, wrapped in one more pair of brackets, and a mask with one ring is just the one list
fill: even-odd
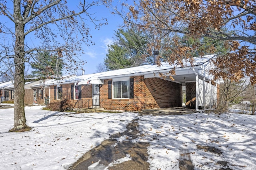
[(84, 63), (78, 58), (82, 44), (93, 44), (90, 28), (106, 24), (91, 8), (105, 4), (105, 0), (0, 0), (0, 73), (15, 70), (11, 131), (30, 129), (24, 111), (25, 63), (39, 52), (51, 51), (64, 61), (64, 69), (79, 68)]

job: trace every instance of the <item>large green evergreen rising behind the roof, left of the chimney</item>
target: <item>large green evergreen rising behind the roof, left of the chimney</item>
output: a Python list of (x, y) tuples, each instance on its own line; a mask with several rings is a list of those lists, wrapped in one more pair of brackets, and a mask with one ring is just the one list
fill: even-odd
[(118, 29), (116, 41), (108, 46), (108, 53), (104, 59), (107, 70), (116, 70), (152, 63), (152, 59), (143, 58), (146, 53), (147, 37), (134, 29)]

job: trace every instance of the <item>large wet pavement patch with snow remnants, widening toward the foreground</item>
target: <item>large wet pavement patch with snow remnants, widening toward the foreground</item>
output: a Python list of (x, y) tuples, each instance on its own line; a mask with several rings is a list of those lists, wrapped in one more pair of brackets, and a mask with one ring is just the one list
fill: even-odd
[[(134, 119), (128, 123), (126, 131), (111, 135), (110, 139), (84, 154), (69, 170), (103, 170), (106, 167), (109, 170), (148, 170), (149, 143), (132, 143), (140, 135), (138, 119)], [(116, 138), (122, 136), (126, 140), (118, 142)], [(126, 161), (122, 161), (124, 159)]]

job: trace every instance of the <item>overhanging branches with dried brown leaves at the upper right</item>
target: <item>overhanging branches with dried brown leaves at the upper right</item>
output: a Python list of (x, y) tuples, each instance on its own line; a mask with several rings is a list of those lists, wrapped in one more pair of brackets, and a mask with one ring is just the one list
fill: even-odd
[[(128, 12), (124, 11), (127, 8)], [(188, 51), (199, 49), (200, 45), (182, 45), (177, 35), (224, 41), (229, 53), (218, 57), (216, 65), (220, 69), (212, 73), (236, 81), (248, 76), (252, 84), (256, 83), (256, 0), (138, 0), (114, 10), (127, 25), (154, 32), (155, 40), (148, 44), (148, 54), (152, 54), (152, 49), (170, 51), (168, 61), (173, 64), (182, 57), (191, 60)], [(163, 46), (164, 36), (170, 37), (175, 48), (168, 43)], [(214, 43), (206, 51), (214, 53)], [(230, 72), (223, 71), (227, 66), (231, 66)]]

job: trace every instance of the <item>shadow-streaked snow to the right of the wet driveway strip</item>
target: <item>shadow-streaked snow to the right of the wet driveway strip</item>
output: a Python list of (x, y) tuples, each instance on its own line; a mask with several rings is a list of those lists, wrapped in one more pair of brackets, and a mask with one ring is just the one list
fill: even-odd
[[(149, 142), (152, 170), (179, 169), (182, 150), (196, 170), (216, 170), (225, 161), (232, 170), (256, 170), (256, 115), (237, 113), (143, 116), (140, 141)], [(198, 147), (214, 147), (221, 154)]]

